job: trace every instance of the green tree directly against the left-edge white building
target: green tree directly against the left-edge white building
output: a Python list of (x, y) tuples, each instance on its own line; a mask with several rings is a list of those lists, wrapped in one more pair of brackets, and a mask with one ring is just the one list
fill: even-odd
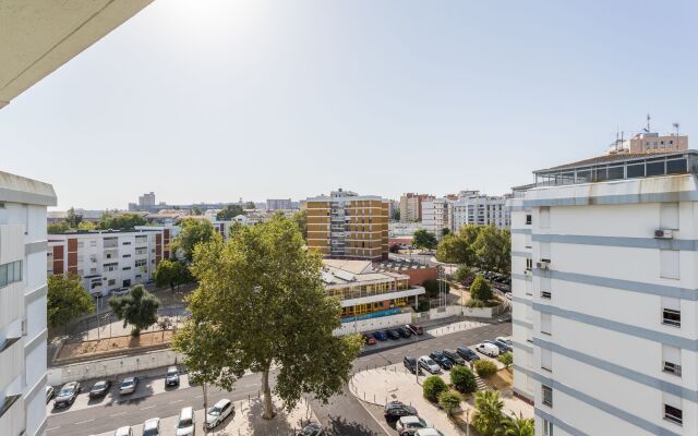
[(83, 288), (82, 279), (74, 272), (65, 276), (48, 276), (48, 325), (67, 326), (86, 313), (95, 312), (89, 292)]

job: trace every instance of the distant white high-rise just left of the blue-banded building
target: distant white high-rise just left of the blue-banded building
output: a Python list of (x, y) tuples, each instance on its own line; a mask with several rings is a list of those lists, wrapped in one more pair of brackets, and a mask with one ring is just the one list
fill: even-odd
[(462, 191), (458, 199), (449, 204), (450, 231), (457, 232), (466, 225), (490, 226), (507, 229), (512, 225), (506, 207), (507, 196), (490, 196), (479, 191)]

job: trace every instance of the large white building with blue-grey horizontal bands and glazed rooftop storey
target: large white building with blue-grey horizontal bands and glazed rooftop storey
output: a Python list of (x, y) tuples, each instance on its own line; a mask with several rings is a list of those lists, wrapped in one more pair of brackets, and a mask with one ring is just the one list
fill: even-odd
[(698, 434), (698, 152), (514, 190), (514, 388), (537, 435)]

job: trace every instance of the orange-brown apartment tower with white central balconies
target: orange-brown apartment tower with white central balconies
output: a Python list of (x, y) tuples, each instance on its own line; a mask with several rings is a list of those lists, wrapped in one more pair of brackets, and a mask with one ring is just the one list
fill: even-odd
[(308, 198), (308, 247), (326, 257), (388, 257), (388, 201), (351, 191)]

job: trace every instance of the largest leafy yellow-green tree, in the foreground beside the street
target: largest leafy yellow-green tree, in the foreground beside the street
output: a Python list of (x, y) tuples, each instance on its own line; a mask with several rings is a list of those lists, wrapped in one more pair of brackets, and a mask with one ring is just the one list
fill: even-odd
[[(227, 390), (234, 384), (230, 374), (262, 373), (265, 419), (275, 415), (273, 365), (273, 391), (285, 409), (309, 392), (327, 402), (342, 391), (362, 340), (333, 335), (341, 308), (325, 295), (321, 268), (288, 218), (242, 227), (226, 242), (215, 235), (194, 250), (191, 270), (198, 288), (188, 299), (192, 316), (176, 349)], [(195, 343), (202, 335), (204, 344)]]

